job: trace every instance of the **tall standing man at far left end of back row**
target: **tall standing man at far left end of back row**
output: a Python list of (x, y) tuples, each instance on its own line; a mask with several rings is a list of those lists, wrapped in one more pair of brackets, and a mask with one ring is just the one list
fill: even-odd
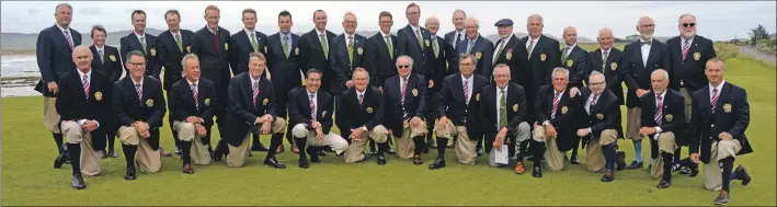
[[(57, 4), (54, 9), (54, 19), (57, 22), (41, 31), (35, 42), (35, 56), (42, 78), (35, 85), (35, 90), (43, 93), (43, 125), (48, 131), (52, 131), (59, 154), (65, 146), (62, 146), (62, 134), (59, 128), (60, 116), (55, 105), (59, 91), (57, 81), (64, 73), (76, 70), (72, 50), (76, 46), (81, 45), (81, 33), (70, 28), (70, 21), (72, 21), (70, 4)], [(62, 159), (68, 160), (67, 158)]]

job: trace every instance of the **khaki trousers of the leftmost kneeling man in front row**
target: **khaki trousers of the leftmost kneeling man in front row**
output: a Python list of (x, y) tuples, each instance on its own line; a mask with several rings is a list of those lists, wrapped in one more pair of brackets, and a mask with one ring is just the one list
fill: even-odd
[(64, 120), (61, 129), (68, 143), (80, 143), (81, 146), (81, 174), (100, 175), (100, 157), (92, 150), (92, 134), (83, 131), (81, 125), (72, 120)]

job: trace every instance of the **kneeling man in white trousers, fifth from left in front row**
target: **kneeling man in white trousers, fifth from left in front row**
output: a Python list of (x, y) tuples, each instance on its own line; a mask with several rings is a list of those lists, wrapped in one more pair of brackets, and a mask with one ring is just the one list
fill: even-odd
[[(310, 153), (310, 162), (321, 162), (318, 151), (323, 146), (332, 148), (338, 156), (348, 148), (348, 142), (345, 139), (331, 131), (334, 97), (327, 92), (319, 91), (321, 71), (310, 69), (305, 77), (307, 77), (305, 87), (298, 87), (288, 92), (289, 125), (294, 126), (292, 134), (299, 148), (298, 166), (301, 169), (309, 168), (307, 153)], [(306, 149), (305, 146), (310, 147)]]

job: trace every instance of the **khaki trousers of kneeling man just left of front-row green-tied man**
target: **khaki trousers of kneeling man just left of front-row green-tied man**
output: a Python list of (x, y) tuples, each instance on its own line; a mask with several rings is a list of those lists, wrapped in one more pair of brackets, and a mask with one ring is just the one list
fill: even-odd
[(477, 147), (478, 141), (469, 139), (469, 134), (467, 134), (467, 127), (454, 126), (454, 123), (450, 122), (450, 119), (446, 120), (443, 124), (446, 126), (445, 129), (439, 127), (434, 129), (434, 133), (437, 135), (437, 137), (456, 137), (456, 139), (458, 140), (456, 141), (454, 150), (456, 151), (456, 158), (458, 158), (458, 162), (461, 164), (475, 165), (475, 158), (478, 156), (475, 151), (475, 148)]

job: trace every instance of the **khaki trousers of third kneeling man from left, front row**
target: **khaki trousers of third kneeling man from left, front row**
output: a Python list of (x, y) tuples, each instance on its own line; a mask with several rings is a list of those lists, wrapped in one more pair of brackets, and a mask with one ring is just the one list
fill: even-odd
[(181, 141), (192, 142), (188, 154), (192, 158), (193, 163), (199, 165), (210, 164), (210, 152), (208, 152), (208, 147), (199, 140), (201, 137), (197, 135), (197, 129), (194, 127), (194, 124), (175, 120), (173, 123), (173, 130), (178, 131), (178, 138)]

